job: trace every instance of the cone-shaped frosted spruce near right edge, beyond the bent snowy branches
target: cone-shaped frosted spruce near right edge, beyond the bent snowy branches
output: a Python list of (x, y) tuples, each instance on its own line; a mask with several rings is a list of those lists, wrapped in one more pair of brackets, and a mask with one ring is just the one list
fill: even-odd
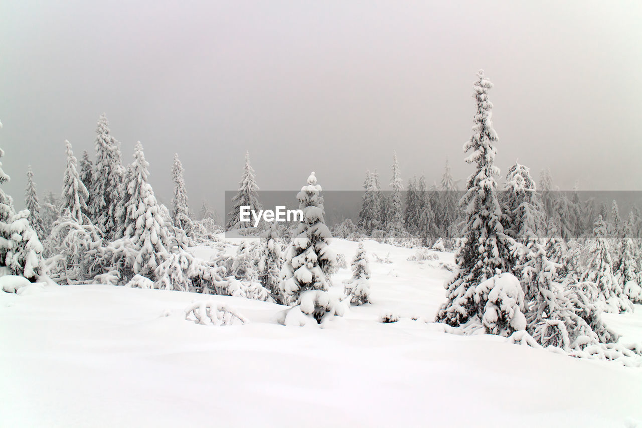
[(607, 242), (607, 224), (600, 215), (593, 228), (593, 256), (582, 281), (589, 281), (597, 287), (597, 297), (605, 303), (607, 312), (632, 310), (632, 305), (624, 289), (613, 274), (611, 253)]

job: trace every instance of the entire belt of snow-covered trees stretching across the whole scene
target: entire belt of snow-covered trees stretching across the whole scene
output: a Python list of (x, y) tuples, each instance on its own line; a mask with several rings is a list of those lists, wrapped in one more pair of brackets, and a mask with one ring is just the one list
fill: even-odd
[[(31, 281), (48, 277), (61, 284), (111, 283), (277, 301), (297, 308), (284, 314), (284, 323), (320, 323), (341, 312), (327, 294), (337, 269), (329, 247), (333, 235), (439, 251), (448, 245), (456, 250), (458, 269), (446, 284), (438, 322), (499, 335), (525, 330), (542, 346), (565, 350), (613, 342), (617, 337), (600, 314), (642, 303), (642, 215), (634, 206), (622, 220), (616, 201), (610, 208), (582, 201), (577, 186), (570, 197), (557, 192), (548, 170), (538, 188), (530, 169), (519, 163), (508, 169), (499, 192), (490, 88), (480, 71), (473, 135), (464, 145), (465, 161), (475, 170), (464, 191), (458, 191), (447, 162), (440, 184), (427, 188), (421, 175), (404, 190), (395, 153), (392, 190), (383, 192), (377, 171), (367, 171), (357, 224), (346, 219), (331, 232), (313, 172), (297, 194), (302, 221), (261, 225), (261, 240), (244, 242), (233, 255), (230, 244), (214, 236), (222, 228), (213, 210), (204, 202), (201, 220), (190, 210), (178, 155), (169, 209), (155, 197), (141, 143), (132, 163), (123, 165), (121, 145), (103, 115), (93, 161), (84, 152), (79, 163), (65, 141), (60, 197), (49, 193), (40, 204), (31, 168), (26, 210), (15, 211), (0, 188), (0, 267)], [(0, 164), (0, 185), (8, 179)], [(240, 222), (240, 207), (261, 210), (258, 190), (246, 154), (226, 229), (248, 226)], [(213, 245), (217, 255), (196, 258), (187, 251), (196, 242)], [(346, 298), (353, 305), (367, 303), (370, 271), (363, 245), (352, 273), (345, 281)]]

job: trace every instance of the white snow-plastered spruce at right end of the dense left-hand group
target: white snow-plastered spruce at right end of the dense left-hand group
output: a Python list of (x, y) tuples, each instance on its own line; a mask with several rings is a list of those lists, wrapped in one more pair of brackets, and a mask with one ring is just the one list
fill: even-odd
[(150, 276), (155, 269), (169, 256), (166, 242), (169, 242), (168, 231), (160, 214), (152, 186), (148, 183), (148, 167), (143, 145), (139, 141), (134, 149), (132, 177), (127, 183), (130, 195), (126, 213), (128, 226), (125, 236), (131, 238), (139, 249), (134, 262), (134, 273)]

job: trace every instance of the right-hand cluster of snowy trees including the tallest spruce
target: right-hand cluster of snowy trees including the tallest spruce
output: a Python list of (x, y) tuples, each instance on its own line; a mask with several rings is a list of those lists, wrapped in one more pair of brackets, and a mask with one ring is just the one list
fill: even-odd
[[(641, 249), (634, 241), (639, 217), (632, 211), (621, 222), (614, 203), (614, 224), (598, 214), (592, 236), (578, 235), (585, 227), (577, 222), (582, 215), (566, 213), (580, 202), (537, 192), (530, 170), (519, 163), (508, 170), (505, 192), (496, 192), (491, 87), (480, 71), (473, 136), (464, 146), (465, 161), (476, 168), (460, 201), (464, 226), (455, 255), (458, 271), (446, 284), (447, 302), (437, 321), (506, 336), (526, 330), (542, 346), (567, 351), (612, 343), (617, 335), (600, 314), (631, 310), (632, 302), (640, 301)], [(550, 174), (542, 179), (550, 188)]]

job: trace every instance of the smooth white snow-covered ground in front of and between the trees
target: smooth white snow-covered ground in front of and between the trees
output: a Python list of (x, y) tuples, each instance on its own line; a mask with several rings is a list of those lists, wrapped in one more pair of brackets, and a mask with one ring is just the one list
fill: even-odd
[[(332, 247), (349, 264), (357, 243)], [(433, 319), (451, 273), (406, 260), (413, 249), (365, 248), (372, 305), (324, 328), (281, 326), (279, 305), (225, 296), (108, 285), (0, 292), (0, 426), (642, 427), (641, 369), (437, 332), (410, 318)], [(349, 275), (333, 277), (333, 293)], [(186, 321), (195, 299), (250, 322)], [(389, 311), (403, 318), (377, 322)], [(642, 339), (641, 306), (605, 319), (625, 341)]]

